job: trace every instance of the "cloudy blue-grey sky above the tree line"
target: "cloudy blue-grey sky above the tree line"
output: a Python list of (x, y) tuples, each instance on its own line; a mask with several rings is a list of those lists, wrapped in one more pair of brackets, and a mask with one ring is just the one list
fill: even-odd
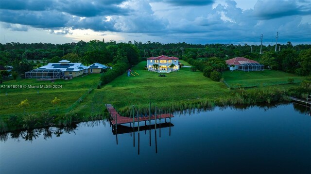
[(311, 44), (310, 0), (0, 0), (0, 42)]

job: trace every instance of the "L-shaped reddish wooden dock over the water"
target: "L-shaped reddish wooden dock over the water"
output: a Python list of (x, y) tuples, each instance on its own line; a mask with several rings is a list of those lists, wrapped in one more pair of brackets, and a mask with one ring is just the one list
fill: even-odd
[[(126, 123), (135, 123), (135, 122), (142, 122), (142, 121), (149, 121), (149, 120), (155, 120), (155, 115), (151, 115), (149, 117), (148, 116), (144, 116), (144, 117), (140, 117), (139, 116), (139, 119), (137, 117), (135, 117), (134, 119), (133, 118), (129, 118), (129, 117), (124, 117), (124, 116), (121, 116), (116, 110), (115, 108), (113, 108), (113, 106), (111, 104), (106, 104), (106, 107), (107, 107), (107, 110), (110, 114), (110, 118), (111, 118), (111, 123), (113, 126), (115, 125), (121, 125), (121, 124), (126, 124)], [(156, 115), (156, 119), (166, 119), (166, 118), (173, 118), (173, 114), (158, 114)]]

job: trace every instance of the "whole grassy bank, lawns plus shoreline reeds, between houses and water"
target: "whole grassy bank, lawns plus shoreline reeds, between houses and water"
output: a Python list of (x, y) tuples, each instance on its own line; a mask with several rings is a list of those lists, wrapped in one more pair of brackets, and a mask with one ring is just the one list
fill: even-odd
[[(181, 60), (181, 62), (190, 65), (185, 61)], [(0, 132), (68, 126), (72, 123), (105, 119), (108, 113), (104, 104), (107, 103), (112, 104), (122, 115), (130, 116), (132, 105), (135, 105), (136, 111), (148, 113), (149, 103), (151, 103), (152, 112), (156, 106), (164, 113), (194, 108), (210, 109), (215, 106), (271, 104), (288, 101), (287, 96), (290, 95), (300, 97), (305, 95), (305, 92), (299, 88), (299, 84), (292, 82), (230, 90), (223, 82), (212, 81), (204, 77), (203, 72), (191, 71), (187, 67), (182, 67), (178, 72), (167, 73), (165, 78), (159, 78), (157, 72), (144, 70), (145, 64), (146, 61), (142, 61), (132, 67), (139, 76), (127, 77), (126, 73), (123, 73), (99, 88), (97, 85), (101, 75), (91, 74), (69, 81), (56, 80), (53, 84), (63, 85), (61, 89), (0, 89), (2, 100)], [(245, 82), (250, 84), (252, 80), (253, 83), (259, 80), (256, 73), (260, 72), (225, 71), (224, 79), (235, 83), (234, 80), (239, 77), (236, 79), (233, 76), (229, 77), (231, 73), (239, 73), (239, 77), (245, 77)], [(253, 75), (250, 75), (251, 73)], [(272, 82), (287, 78), (294, 80), (305, 78), (274, 70), (267, 70), (264, 73), (265, 76), (260, 79), (262, 81), (265, 81), (264, 78)], [(21, 83), (23, 85), (51, 84), (50, 81), (18, 79), (5, 81), (2, 85)], [(239, 83), (243, 83), (243, 80)], [(54, 97), (60, 99), (58, 106), (51, 104)], [(18, 108), (17, 105), (26, 98), (29, 106)]]

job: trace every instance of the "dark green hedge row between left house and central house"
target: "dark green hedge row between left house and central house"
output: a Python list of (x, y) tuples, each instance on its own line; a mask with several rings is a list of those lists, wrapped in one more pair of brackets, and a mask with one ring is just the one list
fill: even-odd
[(127, 70), (128, 64), (127, 63), (116, 63), (113, 66), (113, 69), (107, 70), (107, 72), (103, 73), (101, 76), (101, 85), (107, 84), (113, 79), (116, 79), (118, 76), (123, 74)]

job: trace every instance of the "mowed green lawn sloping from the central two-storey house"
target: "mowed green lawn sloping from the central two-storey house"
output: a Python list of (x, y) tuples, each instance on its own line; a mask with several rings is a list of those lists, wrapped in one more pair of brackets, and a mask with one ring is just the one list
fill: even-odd
[[(202, 97), (217, 98), (229, 93), (223, 83), (204, 77), (200, 71), (192, 72), (190, 68), (182, 67), (178, 72), (157, 73), (143, 70), (145, 65), (146, 61), (138, 63), (132, 70), (139, 75), (133, 73), (136, 77), (127, 77), (127, 73), (124, 73), (102, 89), (95, 90), (93, 98), (89, 100), (124, 107), (149, 101), (165, 103)], [(159, 74), (165, 74), (166, 77), (158, 77)]]

